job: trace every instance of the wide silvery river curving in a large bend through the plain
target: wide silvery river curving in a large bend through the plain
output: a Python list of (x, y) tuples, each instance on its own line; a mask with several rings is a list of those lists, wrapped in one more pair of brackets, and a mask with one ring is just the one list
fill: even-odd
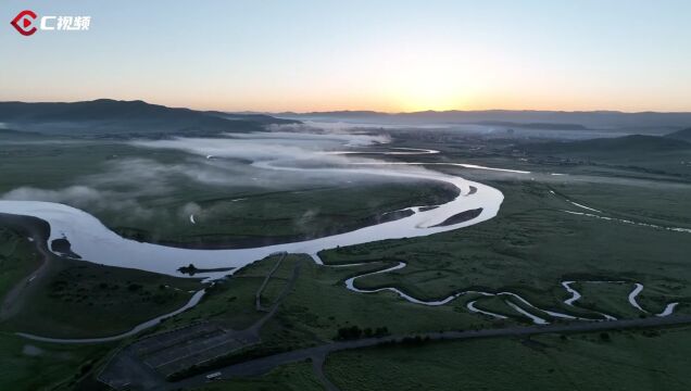
[[(419, 165), (420, 163), (412, 164)], [(332, 175), (360, 174), (409, 178), (411, 180), (435, 180), (452, 185), (460, 192), (452, 201), (435, 209), (422, 207), (427, 205), (413, 205), (410, 207), (413, 214), (407, 217), (360, 228), (350, 232), (292, 243), (228, 250), (179, 249), (125, 239), (110, 230), (89, 213), (60, 203), (0, 201), (0, 213), (34, 216), (48, 222), (51, 228), (49, 244), (55, 239), (67, 239), (72, 245), (72, 251), (79, 255), (81, 260), (109, 266), (181, 276), (177, 269), (189, 264), (194, 264), (197, 268), (203, 269), (233, 267), (237, 270), (276, 252), (285, 251), (315, 255), (322, 250), (337, 247), (450, 231), (494, 217), (503, 201), (503, 194), (494, 188), (468, 181), (457, 176), (426, 169), (400, 171), (386, 167), (378, 169), (364, 166), (359, 166), (357, 168), (296, 168), (275, 166), (266, 162), (255, 164), (255, 166), (265, 169), (327, 172)], [(461, 222), (454, 220), (453, 224), (438, 226), (456, 214), (474, 210), (481, 210), (481, 212), (473, 218)], [(218, 278), (229, 273), (231, 272), (215, 272), (202, 275), (204, 277)]]

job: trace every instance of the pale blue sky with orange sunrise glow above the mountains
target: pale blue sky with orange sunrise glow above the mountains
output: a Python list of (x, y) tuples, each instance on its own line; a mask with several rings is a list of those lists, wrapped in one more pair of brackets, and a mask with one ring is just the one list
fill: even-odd
[[(22, 10), (88, 31), (20, 35)], [(688, 0), (0, 2), (0, 101), (691, 111)]]

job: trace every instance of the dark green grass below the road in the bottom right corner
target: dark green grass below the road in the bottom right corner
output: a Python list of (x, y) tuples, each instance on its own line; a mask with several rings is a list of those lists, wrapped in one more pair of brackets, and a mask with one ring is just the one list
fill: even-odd
[(377, 346), (327, 357), (347, 390), (688, 390), (691, 329)]

